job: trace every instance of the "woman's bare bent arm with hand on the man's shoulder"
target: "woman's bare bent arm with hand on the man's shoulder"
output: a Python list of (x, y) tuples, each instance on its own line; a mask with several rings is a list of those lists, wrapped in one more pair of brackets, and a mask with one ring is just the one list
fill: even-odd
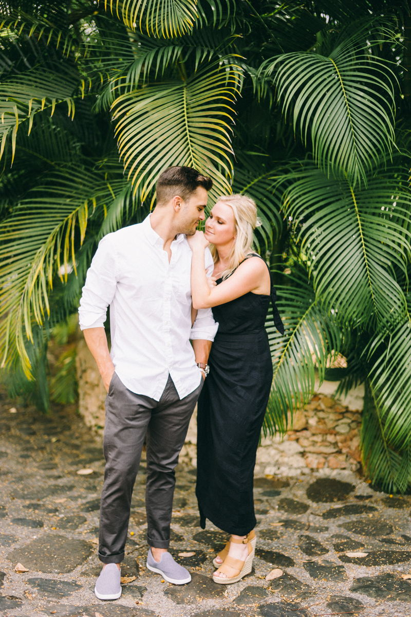
[(234, 274), (219, 285), (209, 288), (204, 263), (204, 249), (208, 242), (202, 231), (196, 231), (187, 240), (193, 252), (191, 265), (191, 295), (195, 309), (209, 309), (244, 296), (249, 291), (269, 294), (270, 282), (267, 266), (259, 257), (247, 259)]

